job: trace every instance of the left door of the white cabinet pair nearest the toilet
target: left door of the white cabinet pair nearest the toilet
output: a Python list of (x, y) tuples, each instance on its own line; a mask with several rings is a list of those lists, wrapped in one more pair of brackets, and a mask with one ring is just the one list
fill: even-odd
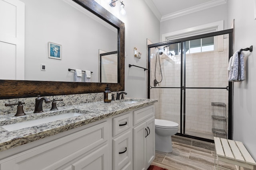
[(133, 128), (133, 169), (146, 170), (146, 122)]

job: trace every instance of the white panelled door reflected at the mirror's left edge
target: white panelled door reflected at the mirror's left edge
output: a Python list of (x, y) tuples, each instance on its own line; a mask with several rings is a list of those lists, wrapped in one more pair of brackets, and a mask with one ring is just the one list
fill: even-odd
[(0, 0), (0, 23), (0, 79), (24, 80), (24, 3)]

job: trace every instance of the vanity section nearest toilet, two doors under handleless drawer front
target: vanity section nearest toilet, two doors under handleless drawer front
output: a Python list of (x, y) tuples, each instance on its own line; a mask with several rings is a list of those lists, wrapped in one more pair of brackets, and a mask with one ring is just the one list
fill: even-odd
[(146, 170), (155, 158), (154, 105), (133, 111), (133, 169)]

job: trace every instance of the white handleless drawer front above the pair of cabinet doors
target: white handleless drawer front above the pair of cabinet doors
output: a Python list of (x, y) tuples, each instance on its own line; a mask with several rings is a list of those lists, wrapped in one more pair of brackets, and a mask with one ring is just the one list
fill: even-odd
[(155, 114), (154, 105), (144, 107), (142, 109), (138, 109), (133, 111), (133, 125), (137, 125), (138, 123), (144, 121), (148, 117), (151, 117)]

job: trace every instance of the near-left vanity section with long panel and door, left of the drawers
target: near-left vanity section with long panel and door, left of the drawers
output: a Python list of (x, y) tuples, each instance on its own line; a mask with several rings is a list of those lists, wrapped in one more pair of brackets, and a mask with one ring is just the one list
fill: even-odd
[[(110, 122), (66, 135), (0, 160), (1, 170), (111, 169), (109, 161)], [(27, 144), (29, 145), (29, 144)]]

